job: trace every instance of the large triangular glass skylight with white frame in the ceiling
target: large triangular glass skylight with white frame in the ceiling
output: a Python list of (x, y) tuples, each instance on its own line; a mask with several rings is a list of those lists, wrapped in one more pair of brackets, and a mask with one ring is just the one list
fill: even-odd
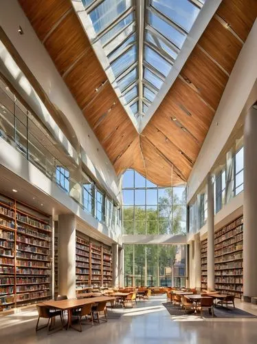
[[(139, 132), (168, 92), (220, 2), (71, 1), (113, 89)], [(192, 27), (205, 6), (209, 6), (208, 21), (202, 23), (203, 19), (199, 19), (199, 34), (191, 37)], [(183, 49), (186, 54), (180, 54)], [(173, 67), (177, 61), (179, 67)]]

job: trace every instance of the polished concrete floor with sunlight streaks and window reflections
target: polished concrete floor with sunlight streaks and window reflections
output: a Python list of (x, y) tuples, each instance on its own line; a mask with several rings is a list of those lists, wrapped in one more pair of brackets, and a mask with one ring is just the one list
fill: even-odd
[[(151, 297), (134, 308), (114, 309), (107, 323), (84, 325), (83, 331), (62, 330), (47, 335), (35, 332), (37, 313), (26, 310), (0, 317), (1, 344), (256, 344), (257, 319), (201, 319), (170, 316), (161, 304), (166, 297)], [(257, 306), (240, 301), (236, 306), (257, 315)], [(112, 311), (109, 311), (110, 313)], [(119, 316), (120, 315), (120, 316)], [(44, 321), (44, 320), (42, 320)], [(56, 325), (58, 322), (56, 321)]]

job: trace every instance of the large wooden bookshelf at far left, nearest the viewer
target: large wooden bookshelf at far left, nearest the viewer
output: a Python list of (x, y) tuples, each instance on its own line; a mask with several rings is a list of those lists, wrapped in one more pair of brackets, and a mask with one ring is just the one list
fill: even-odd
[(0, 311), (51, 297), (49, 217), (0, 195)]

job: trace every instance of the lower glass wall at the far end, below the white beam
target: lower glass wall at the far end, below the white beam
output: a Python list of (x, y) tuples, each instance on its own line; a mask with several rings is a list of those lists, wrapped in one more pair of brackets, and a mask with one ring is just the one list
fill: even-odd
[(186, 285), (186, 245), (125, 245), (124, 286)]

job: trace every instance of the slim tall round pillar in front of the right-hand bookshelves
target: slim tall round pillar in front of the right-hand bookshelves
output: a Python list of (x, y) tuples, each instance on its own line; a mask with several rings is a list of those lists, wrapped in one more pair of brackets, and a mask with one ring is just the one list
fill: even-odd
[(207, 217), (207, 230), (208, 230), (208, 252), (207, 252), (207, 288), (214, 290), (214, 185), (212, 175), (208, 173), (207, 176), (207, 189), (208, 189), (208, 217)]

